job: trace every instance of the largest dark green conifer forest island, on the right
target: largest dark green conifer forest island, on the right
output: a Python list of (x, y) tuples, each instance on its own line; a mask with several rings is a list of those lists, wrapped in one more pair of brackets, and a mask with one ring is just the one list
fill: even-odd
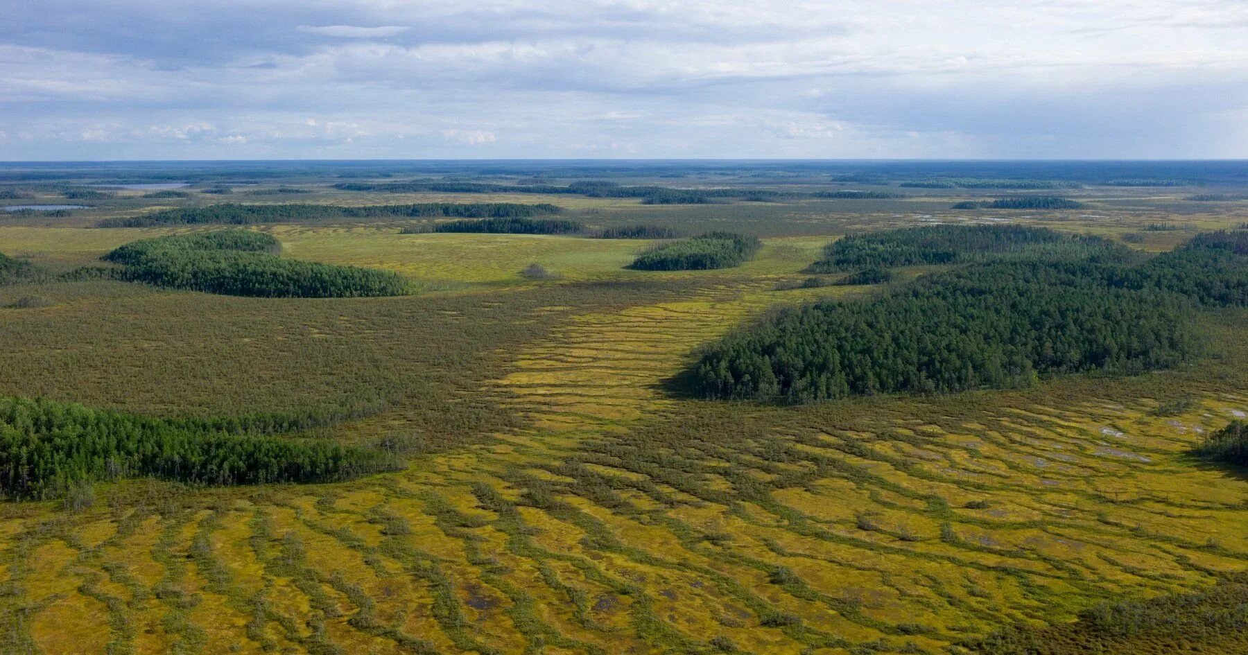
[[(1022, 243), (1041, 237), (998, 230)], [(690, 379), (709, 398), (811, 402), (1167, 368), (1199, 353), (1192, 303), (1246, 304), (1248, 267), (1234, 253), (1243, 238), (1202, 236), (1142, 264), (990, 261), (867, 301), (782, 311), (704, 348)], [(934, 241), (932, 251), (946, 252), (942, 246)], [(902, 260), (930, 258), (915, 252)]]

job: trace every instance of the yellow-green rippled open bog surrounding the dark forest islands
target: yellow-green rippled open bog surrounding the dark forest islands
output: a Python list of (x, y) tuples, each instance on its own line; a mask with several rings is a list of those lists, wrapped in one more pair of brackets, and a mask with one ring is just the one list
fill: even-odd
[[(1027, 653), (977, 641), (1002, 629), (1055, 654), (1248, 649), (1242, 630), (1072, 623), (1248, 569), (1248, 473), (1188, 454), (1248, 413), (1244, 309), (1193, 318), (1202, 359), (1126, 378), (807, 405), (695, 399), (674, 379), (779, 307), (875, 293), (790, 288), (849, 231), (1007, 220), (1159, 252), (1244, 223), (1248, 202), (1171, 211), (1191, 190), (1087, 188), (1068, 193), (1082, 208), (1002, 213), (950, 210), (983, 197), (965, 190), (681, 207), (281, 183), (310, 188), (292, 202), (552, 202), (595, 227), (735, 230), (763, 247), (735, 268), (650, 272), (625, 266), (651, 241), (302, 222), (248, 228), (282, 257), (421, 291), (0, 286), (0, 306), (46, 301), (0, 308), (0, 394), (160, 417), (331, 408), (343, 418), (293, 438), (404, 457), (344, 483), (124, 479), (72, 503), (0, 502), (0, 653)], [(0, 252), (69, 271), (213, 230), (92, 227), (156, 202), (0, 217)], [(553, 276), (522, 274), (533, 263)]]

